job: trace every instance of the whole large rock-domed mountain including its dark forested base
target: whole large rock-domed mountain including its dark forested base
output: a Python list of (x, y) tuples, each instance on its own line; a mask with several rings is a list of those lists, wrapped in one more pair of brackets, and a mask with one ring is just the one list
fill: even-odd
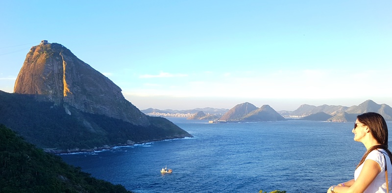
[(15, 81), (0, 92), (0, 123), (40, 148), (93, 150), (192, 137), (150, 117), (111, 80), (56, 43), (32, 47)]

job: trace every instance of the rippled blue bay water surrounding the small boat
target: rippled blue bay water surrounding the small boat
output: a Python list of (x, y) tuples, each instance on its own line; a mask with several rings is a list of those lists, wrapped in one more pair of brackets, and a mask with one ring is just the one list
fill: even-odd
[(354, 122), (170, 120), (195, 137), (61, 157), (136, 193), (325, 193), (353, 178), (366, 150)]

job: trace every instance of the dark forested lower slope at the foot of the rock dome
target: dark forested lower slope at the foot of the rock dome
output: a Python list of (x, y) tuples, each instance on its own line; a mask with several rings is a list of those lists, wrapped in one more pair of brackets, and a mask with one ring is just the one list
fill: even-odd
[(192, 137), (164, 118), (148, 117), (148, 126), (104, 115), (90, 114), (63, 105), (39, 101), (37, 96), (0, 91), (0, 123), (40, 148), (93, 149), (103, 145), (135, 143)]

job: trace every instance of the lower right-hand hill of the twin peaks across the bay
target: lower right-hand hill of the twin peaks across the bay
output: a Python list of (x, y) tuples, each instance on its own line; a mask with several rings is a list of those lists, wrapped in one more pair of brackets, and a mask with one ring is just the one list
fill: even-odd
[(244, 121), (286, 121), (284, 117), (273, 110), (270, 105), (262, 107), (250, 112), (243, 117)]

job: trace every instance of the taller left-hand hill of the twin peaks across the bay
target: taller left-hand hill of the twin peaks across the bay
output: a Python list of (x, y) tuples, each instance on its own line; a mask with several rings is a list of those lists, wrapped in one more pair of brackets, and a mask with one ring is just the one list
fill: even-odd
[(221, 121), (237, 121), (242, 120), (242, 118), (248, 113), (256, 110), (257, 107), (249, 102), (237, 104), (231, 108), (227, 113), (225, 113), (219, 120)]

